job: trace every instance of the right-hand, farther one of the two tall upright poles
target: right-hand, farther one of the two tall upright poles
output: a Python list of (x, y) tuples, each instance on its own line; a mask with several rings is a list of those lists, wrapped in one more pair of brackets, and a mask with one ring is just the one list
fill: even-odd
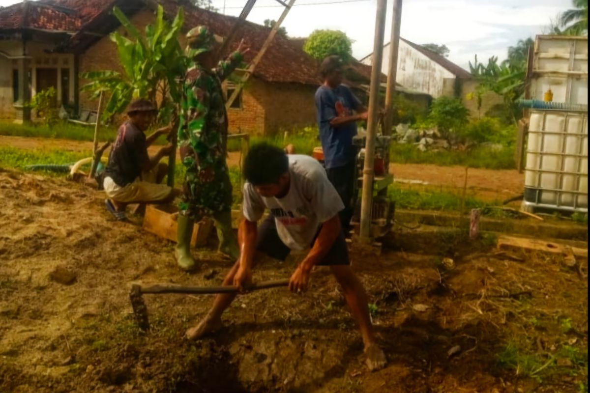
[(394, 12), (391, 23), (391, 41), (389, 41), (389, 72), (387, 74), (387, 91), (385, 94), (385, 121), (383, 133), (391, 134), (394, 123), (395, 78), (398, 73), (399, 28), (402, 21), (402, 0), (394, 0)]

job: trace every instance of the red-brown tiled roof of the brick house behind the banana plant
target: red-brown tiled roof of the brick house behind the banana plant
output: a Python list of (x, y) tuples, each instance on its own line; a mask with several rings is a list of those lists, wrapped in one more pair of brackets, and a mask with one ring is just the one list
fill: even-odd
[[(103, 34), (114, 29), (113, 16), (109, 15), (114, 5), (126, 7), (128, 12), (139, 11), (148, 0), (40, 0), (22, 2), (0, 8), (0, 31), (6, 29), (44, 29), (54, 31), (76, 31), (69, 41), (70, 49), (84, 50), (94, 44)], [(238, 18), (217, 12), (196, 8), (188, 0), (159, 0), (165, 14), (172, 18), (179, 6), (185, 10), (185, 29), (196, 25), (207, 25), (218, 35), (227, 35)], [(25, 12), (28, 11), (28, 12)], [(116, 21), (115, 21), (116, 22)], [(85, 35), (84, 31), (90, 31)], [(245, 21), (235, 37), (243, 37), (250, 47), (245, 61), (251, 61), (268, 37), (270, 28)], [(270, 82), (295, 82), (319, 85), (319, 64), (303, 51), (303, 39), (289, 39), (276, 35), (263, 59), (257, 65), (254, 75)], [(237, 45), (236, 40), (234, 45)], [(371, 66), (354, 64), (360, 78), (371, 78)], [(366, 82), (366, 81), (363, 81)]]

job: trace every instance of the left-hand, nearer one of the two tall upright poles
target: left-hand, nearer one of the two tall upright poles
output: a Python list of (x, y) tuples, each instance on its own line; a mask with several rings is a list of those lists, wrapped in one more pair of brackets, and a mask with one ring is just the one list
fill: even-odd
[(359, 237), (363, 242), (370, 242), (371, 207), (373, 204), (373, 176), (375, 161), (375, 134), (379, 122), (379, 88), (381, 87), (381, 63), (383, 61), (383, 36), (385, 35), (385, 14), (387, 1), (377, 0), (375, 21), (375, 42), (373, 43), (373, 60), (371, 69), (371, 90), (369, 91), (369, 120), (365, 144), (365, 167), (363, 169), (363, 191), (360, 202)]

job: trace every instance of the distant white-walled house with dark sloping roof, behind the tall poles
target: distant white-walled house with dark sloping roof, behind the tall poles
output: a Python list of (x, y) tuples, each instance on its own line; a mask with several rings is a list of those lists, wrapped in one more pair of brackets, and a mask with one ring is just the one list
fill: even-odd
[[(383, 47), (381, 67), (384, 72), (389, 70), (390, 44)], [(362, 58), (360, 62), (371, 65), (372, 54)], [(458, 96), (455, 86), (460, 85), (463, 81), (471, 80), (471, 78), (469, 72), (447, 58), (407, 39), (399, 38), (396, 82), (404, 88), (429, 94), (432, 98), (442, 95)]]

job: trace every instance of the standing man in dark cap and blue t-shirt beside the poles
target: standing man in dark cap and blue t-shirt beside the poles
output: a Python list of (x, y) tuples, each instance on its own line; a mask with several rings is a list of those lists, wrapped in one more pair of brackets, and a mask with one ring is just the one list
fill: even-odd
[(316, 113), (324, 166), (330, 183), (345, 205), (339, 214), (342, 227), (348, 233), (356, 203), (356, 196), (353, 195), (356, 167), (352, 138), (356, 135), (356, 122), (367, 120), (368, 112), (352, 91), (342, 85), (343, 71), (344, 62), (338, 56), (329, 56), (322, 62), (320, 72), (324, 84), (316, 91)]

